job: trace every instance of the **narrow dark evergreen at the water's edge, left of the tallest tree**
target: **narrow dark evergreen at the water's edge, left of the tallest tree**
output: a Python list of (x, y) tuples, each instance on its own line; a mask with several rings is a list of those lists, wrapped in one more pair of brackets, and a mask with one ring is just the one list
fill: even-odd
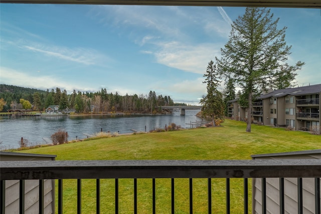
[(211, 60), (207, 66), (206, 73), (203, 75), (206, 77), (203, 83), (207, 84), (207, 95), (203, 96), (200, 103), (203, 105), (202, 116), (211, 117), (213, 126), (215, 126), (215, 119), (223, 119), (224, 117), (223, 95), (217, 89), (221, 82), (218, 79), (218, 75), (216, 65)]

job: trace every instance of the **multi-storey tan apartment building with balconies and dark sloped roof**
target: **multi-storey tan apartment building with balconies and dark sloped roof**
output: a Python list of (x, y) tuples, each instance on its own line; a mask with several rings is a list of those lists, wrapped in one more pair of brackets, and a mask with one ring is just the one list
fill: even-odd
[[(253, 102), (254, 123), (295, 130), (320, 131), (321, 84), (272, 90)], [(235, 120), (247, 118), (247, 108), (238, 99), (228, 101), (228, 116)]]

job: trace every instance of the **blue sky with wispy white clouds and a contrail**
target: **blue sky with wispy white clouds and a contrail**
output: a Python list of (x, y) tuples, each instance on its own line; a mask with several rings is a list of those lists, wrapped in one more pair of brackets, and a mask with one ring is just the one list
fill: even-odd
[[(0, 82), (170, 95), (197, 104), (203, 74), (220, 57), (244, 7), (0, 4)], [(299, 86), (321, 83), (321, 10), (271, 8), (287, 26)], [(224, 88), (224, 85), (222, 85)]]

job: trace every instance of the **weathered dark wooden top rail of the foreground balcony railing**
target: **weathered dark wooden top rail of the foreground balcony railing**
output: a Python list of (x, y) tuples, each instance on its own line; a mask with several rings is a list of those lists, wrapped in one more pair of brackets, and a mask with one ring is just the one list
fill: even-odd
[(1, 161), (1, 180), (321, 177), (321, 159)]

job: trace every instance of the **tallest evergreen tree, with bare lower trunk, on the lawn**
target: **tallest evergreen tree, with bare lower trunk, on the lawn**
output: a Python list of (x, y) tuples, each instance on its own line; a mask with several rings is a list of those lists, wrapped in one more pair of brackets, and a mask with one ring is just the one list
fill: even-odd
[[(269, 9), (247, 7), (245, 14), (232, 24), (229, 40), (221, 49), (222, 57), (216, 58), (221, 73), (235, 79), (248, 95), (248, 132), (251, 131), (252, 100), (262, 89), (274, 84), (290, 54), (291, 46), (285, 42), (286, 27), (278, 29), (278, 20), (273, 20)], [(295, 71), (303, 64), (298, 61), (288, 69)]]

